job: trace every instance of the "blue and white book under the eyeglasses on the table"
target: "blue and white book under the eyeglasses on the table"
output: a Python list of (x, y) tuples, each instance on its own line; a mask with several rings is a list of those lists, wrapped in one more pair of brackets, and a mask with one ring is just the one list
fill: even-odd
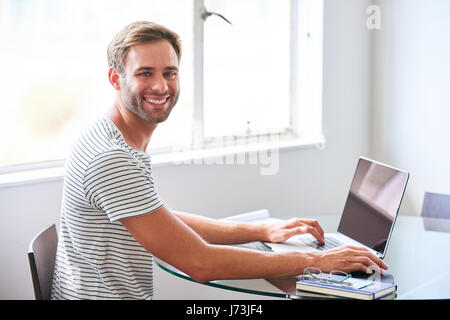
[(322, 280), (300, 278), (296, 288), (300, 295), (301, 291), (307, 291), (362, 300), (379, 299), (397, 291), (397, 285), (388, 282), (349, 278), (343, 283), (334, 283), (327, 282), (326, 277), (327, 275), (322, 275)]

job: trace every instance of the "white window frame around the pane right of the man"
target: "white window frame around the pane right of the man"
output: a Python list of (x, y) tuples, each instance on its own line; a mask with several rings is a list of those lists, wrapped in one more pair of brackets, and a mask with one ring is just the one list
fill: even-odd
[[(314, 145), (318, 149), (323, 149), (325, 145), (325, 138), (322, 132), (322, 79), (323, 79), (323, 0), (289, 0), (290, 2), (290, 127), (284, 131), (272, 133), (249, 133), (247, 135), (231, 135), (226, 137), (205, 137), (203, 132), (203, 115), (204, 115), (204, 23), (206, 19), (203, 17), (207, 12), (204, 0), (194, 1), (194, 86), (193, 93), (193, 126), (192, 126), (192, 142), (191, 145), (183, 152), (204, 149), (220, 149), (225, 147), (224, 140), (234, 141), (270, 141), (272, 137), (276, 136), (279, 141), (290, 141), (289, 145), (308, 146)], [(313, 9), (311, 9), (313, 8)], [(314, 11), (314, 18), (307, 18), (307, 16)], [(311, 23), (315, 21), (315, 23)], [(314, 41), (313, 41), (314, 40)], [(300, 50), (301, 48), (301, 50)], [(306, 86), (309, 81), (305, 77), (299, 76), (300, 68), (305, 67), (311, 61), (310, 58), (315, 57), (313, 68), (310, 68), (310, 74), (320, 75), (313, 84), (309, 84), (309, 88), (314, 87), (314, 96), (308, 93), (308, 90), (298, 92), (297, 88)], [(311, 70), (312, 69), (312, 70)], [(309, 101), (308, 105), (303, 101)], [(313, 108), (317, 111), (314, 119), (306, 117), (305, 109)], [(311, 123), (316, 130), (311, 130)], [(315, 131), (315, 132), (312, 132)], [(244, 142), (245, 143), (245, 142)], [(283, 148), (284, 143), (280, 144)], [(241, 150), (242, 144), (236, 144), (236, 150)], [(230, 150), (230, 148), (228, 148)], [(255, 149), (249, 147), (249, 149)], [(264, 148), (263, 148), (264, 149)], [(176, 153), (172, 148), (159, 148), (150, 150), (149, 153), (157, 156), (166, 153)], [(228, 151), (230, 152), (230, 151)], [(226, 154), (227, 152), (220, 152), (218, 156)], [(201, 154), (201, 153), (197, 153)], [(188, 157), (188, 156), (187, 156)], [(194, 156), (195, 157), (195, 156)], [(161, 158), (166, 159), (166, 156)], [(179, 158), (176, 156), (175, 158)], [(181, 158), (186, 158), (181, 156)]]

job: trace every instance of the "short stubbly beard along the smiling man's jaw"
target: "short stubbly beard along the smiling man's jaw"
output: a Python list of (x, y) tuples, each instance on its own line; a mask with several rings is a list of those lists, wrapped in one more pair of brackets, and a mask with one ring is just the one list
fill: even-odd
[(161, 123), (166, 121), (173, 107), (175, 107), (175, 104), (178, 101), (178, 97), (180, 96), (179, 91), (176, 94), (174, 94), (172, 91), (169, 91), (167, 92), (167, 94), (170, 95), (170, 97), (168, 98), (169, 104), (167, 108), (164, 110), (149, 111), (144, 107), (145, 103), (145, 100), (143, 98), (144, 94), (143, 93), (137, 94), (133, 92), (131, 88), (128, 87), (126, 81), (123, 81), (122, 84), (123, 85), (121, 86), (120, 93), (122, 97), (122, 102), (125, 105), (125, 107), (142, 120), (151, 123)]

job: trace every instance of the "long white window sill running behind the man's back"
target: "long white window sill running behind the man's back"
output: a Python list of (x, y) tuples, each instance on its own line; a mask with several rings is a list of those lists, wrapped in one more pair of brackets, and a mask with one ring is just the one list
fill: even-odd
[[(179, 151), (171, 153), (152, 154), (152, 166), (161, 167), (180, 164), (249, 164), (248, 158), (230, 160), (230, 156), (251, 154), (264, 151), (286, 151), (303, 148), (322, 149), (325, 145), (325, 138), (312, 137), (309, 139), (295, 138), (274, 143), (256, 143), (236, 146), (225, 146), (200, 150)], [(227, 157), (224, 159), (224, 157)], [(234, 159), (234, 158), (233, 158)], [(242, 162), (242, 159), (243, 160)], [(233, 162), (234, 161), (234, 162)], [(247, 161), (247, 162), (246, 162)], [(42, 183), (61, 180), (64, 177), (64, 165), (54, 167), (25, 169), (10, 173), (0, 174), (0, 188), (13, 187), (33, 183)]]

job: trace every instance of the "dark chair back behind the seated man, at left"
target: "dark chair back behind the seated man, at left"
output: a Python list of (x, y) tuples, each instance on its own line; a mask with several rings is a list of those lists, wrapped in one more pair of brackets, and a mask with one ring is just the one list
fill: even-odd
[(50, 300), (57, 245), (55, 224), (47, 226), (30, 242), (28, 260), (36, 300)]

